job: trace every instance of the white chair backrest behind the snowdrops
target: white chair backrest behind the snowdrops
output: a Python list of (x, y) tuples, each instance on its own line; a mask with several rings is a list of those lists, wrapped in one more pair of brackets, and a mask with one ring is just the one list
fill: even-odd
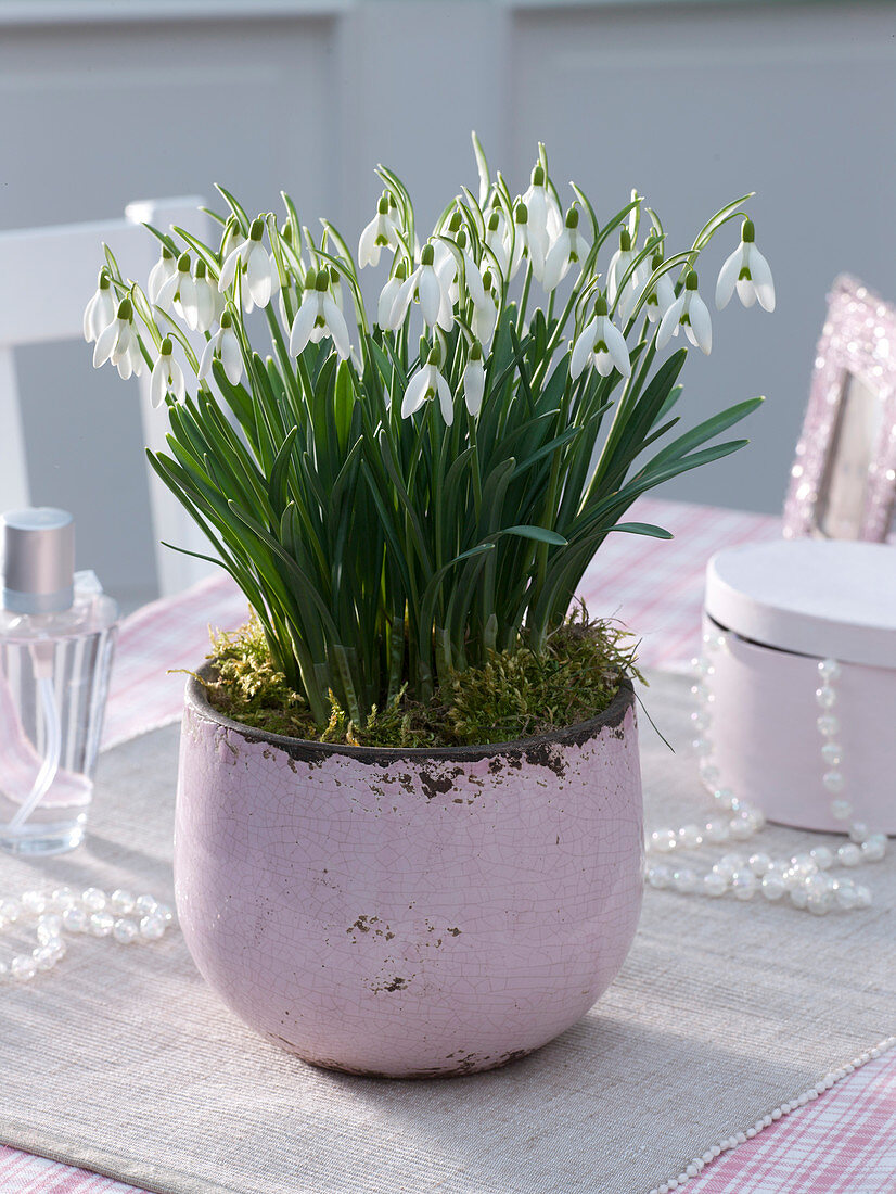
[[(144, 222), (187, 228), (205, 239), (208, 216), (193, 197), (131, 203), (124, 219), (0, 233), (0, 510), (29, 504), (29, 482), (14, 350), (19, 345), (79, 339), (84, 308), (97, 287), (101, 245), (107, 244), (122, 272), (143, 283), (157, 259), (157, 244)], [(52, 278), (52, 285), (47, 285)], [(143, 435), (150, 448), (165, 444), (167, 414), (149, 401), (149, 377), (141, 378)], [(148, 466), (147, 466), (148, 467)], [(149, 501), (156, 540), (156, 574), (163, 596), (208, 576), (212, 566), (161, 547), (209, 552), (202, 531), (177, 498), (149, 470)]]

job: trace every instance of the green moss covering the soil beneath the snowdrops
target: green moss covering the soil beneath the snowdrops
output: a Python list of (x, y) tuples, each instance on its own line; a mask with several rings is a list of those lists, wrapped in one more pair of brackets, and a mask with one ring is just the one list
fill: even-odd
[(527, 647), (489, 653), (482, 667), (455, 672), (433, 701), (419, 704), (402, 690), (356, 725), (330, 693), (326, 730), (315, 726), (304, 697), (291, 689), (258, 621), (212, 634), (210, 702), (225, 716), (271, 733), (359, 746), (464, 746), (529, 738), (587, 721), (607, 708), (623, 675), (641, 679), (635, 645), (623, 627), (591, 621), (583, 607), (548, 639), (542, 654)]

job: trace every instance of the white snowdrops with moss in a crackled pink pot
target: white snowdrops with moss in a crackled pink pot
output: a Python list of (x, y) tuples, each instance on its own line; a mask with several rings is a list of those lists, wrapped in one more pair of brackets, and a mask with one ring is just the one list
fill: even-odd
[(748, 196), (673, 252), (641, 195), (562, 201), (540, 147), (514, 196), (474, 147), (428, 235), (381, 167), (357, 260), (221, 189), (220, 239), (150, 229), (146, 290), (106, 252), (85, 320), (97, 365), (152, 370), (153, 466), (252, 611), (187, 685), (187, 944), (265, 1036), (359, 1073), (501, 1065), (622, 965), (637, 672), (574, 597), (607, 535), (668, 537), (639, 494), (746, 442), (718, 437), (759, 399), (678, 429), (666, 351), (710, 351), (698, 270), (735, 220), (717, 303), (774, 306)]

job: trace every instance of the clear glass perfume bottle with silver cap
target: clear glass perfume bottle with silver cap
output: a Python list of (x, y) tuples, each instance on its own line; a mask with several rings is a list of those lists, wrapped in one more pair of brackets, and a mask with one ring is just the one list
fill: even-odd
[(0, 517), (0, 847), (70, 850), (93, 795), (118, 607), (74, 572), (74, 521)]

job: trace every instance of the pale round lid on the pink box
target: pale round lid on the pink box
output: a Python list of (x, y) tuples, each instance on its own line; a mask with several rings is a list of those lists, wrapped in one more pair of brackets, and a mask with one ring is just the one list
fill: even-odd
[(706, 613), (768, 647), (896, 667), (896, 547), (797, 538), (716, 553)]

